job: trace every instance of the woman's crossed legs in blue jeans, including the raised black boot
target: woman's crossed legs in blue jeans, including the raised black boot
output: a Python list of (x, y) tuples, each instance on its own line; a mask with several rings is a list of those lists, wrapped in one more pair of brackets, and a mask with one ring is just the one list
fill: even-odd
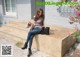
[(22, 49), (26, 49), (27, 48), (27, 44), (28, 44), (29, 41), (30, 41), (29, 42), (29, 48), (31, 49), (32, 40), (33, 40), (34, 35), (40, 33), (41, 30), (42, 29), (40, 29), (40, 28), (34, 28), (33, 30), (30, 30), (29, 33), (28, 33), (27, 40), (26, 40), (26, 42), (24, 44), (24, 47)]

